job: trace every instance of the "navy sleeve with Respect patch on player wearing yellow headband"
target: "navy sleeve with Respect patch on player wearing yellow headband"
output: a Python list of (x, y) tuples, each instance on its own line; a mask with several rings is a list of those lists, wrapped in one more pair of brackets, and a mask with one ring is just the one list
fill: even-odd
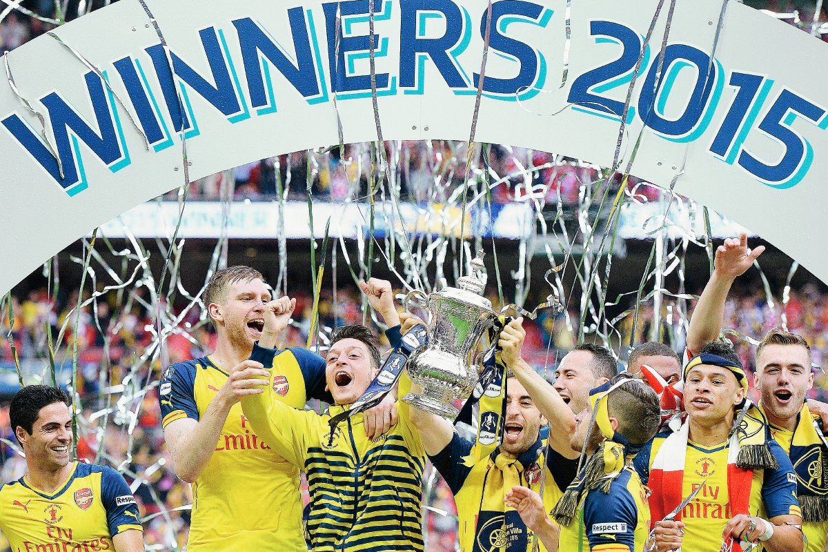
[[(590, 491), (584, 502), (584, 529), (590, 550), (619, 550), (619, 545), (635, 550), (638, 507), (627, 490), (629, 472), (616, 479), (609, 494)], [(623, 549), (622, 549), (623, 550)]]

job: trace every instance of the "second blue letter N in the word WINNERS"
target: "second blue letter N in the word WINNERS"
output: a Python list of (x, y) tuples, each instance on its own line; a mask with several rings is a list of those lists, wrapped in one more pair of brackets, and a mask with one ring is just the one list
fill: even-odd
[[(267, 36), (265, 31), (262, 31), (262, 27), (253, 22), (252, 19), (245, 17), (233, 21), (233, 26), (238, 31), (238, 41), (242, 48), (242, 58), (244, 60), (244, 72), (248, 78), (250, 101), (254, 108), (260, 108), (268, 104), (264, 79), (262, 78), (262, 65), (259, 63), (259, 52), (276, 66), (277, 70), (290, 81), (303, 97), (308, 98), (319, 94), (319, 84), (316, 80), (316, 69), (310, 50), (307, 23), (302, 8), (293, 7), (289, 9), (287, 17), (291, 22), (291, 36), (293, 37), (298, 66), (293, 64), (277, 46), (276, 41)], [(267, 63), (267, 61), (262, 60), (262, 63)]]

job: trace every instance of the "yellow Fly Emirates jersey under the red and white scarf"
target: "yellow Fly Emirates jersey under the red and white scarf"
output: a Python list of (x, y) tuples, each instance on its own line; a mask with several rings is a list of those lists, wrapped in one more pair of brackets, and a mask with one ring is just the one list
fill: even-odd
[[(667, 436), (668, 434), (657, 434), (633, 461), (644, 484), (647, 484), (652, 461)], [(776, 441), (768, 441), (768, 449), (777, 458), (779, 468), (753, 470), (748, 506), (750, 515), (766, 520), (776, 516), (802, 516), (790, 458), (787, 458)], [(722, 530), (733, 517), (728, 492), (727, 460), (727, 443), (704, 447), (690, 440), (687, 442), (681, 496), (690, 495), (696, 487), (701, 487), (701, 491), (681, 511), (681, 521), (685, 523), (683, 550), (718, 552), (721, 548)]]

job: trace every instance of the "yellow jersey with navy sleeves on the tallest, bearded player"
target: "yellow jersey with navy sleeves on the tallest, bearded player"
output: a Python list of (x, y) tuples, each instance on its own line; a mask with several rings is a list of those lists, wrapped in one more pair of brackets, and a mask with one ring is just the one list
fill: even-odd
[[(325, 391), (325, 360), (301, 348), (276, 353), (280, 377), (269, 396), (301, 408), (309, 397), (332, 401)], [(228, 380), (209, 357), (179, 362), (161, 378), (162, 425), (199, 420)], [(248, 552), (305, 552), (299, 470), (257, 434), (236, 403), (221, 430), (215, 452), (193, 484), (187, 549)]]

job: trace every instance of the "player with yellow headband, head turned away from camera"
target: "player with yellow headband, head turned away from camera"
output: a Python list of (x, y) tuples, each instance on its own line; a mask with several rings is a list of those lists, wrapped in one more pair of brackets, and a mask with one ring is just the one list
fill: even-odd
[[(638, 379), (619, 376), (590, 391), (589, 406), (577, 416), (572, 449), (588, 459), (546, 516), (536, 492), (513, 487), (513, 507), (547, 550), (643, 550), (650, 513), (647, 494), (628, 459), (652, 439), (660, 422), (655, 391)], [(577, 517), (577, 520), (575, 518)], [(559, 536), (560, 533), (560, 536)], [(560, 542), (560, 548), (559, 548)]]

